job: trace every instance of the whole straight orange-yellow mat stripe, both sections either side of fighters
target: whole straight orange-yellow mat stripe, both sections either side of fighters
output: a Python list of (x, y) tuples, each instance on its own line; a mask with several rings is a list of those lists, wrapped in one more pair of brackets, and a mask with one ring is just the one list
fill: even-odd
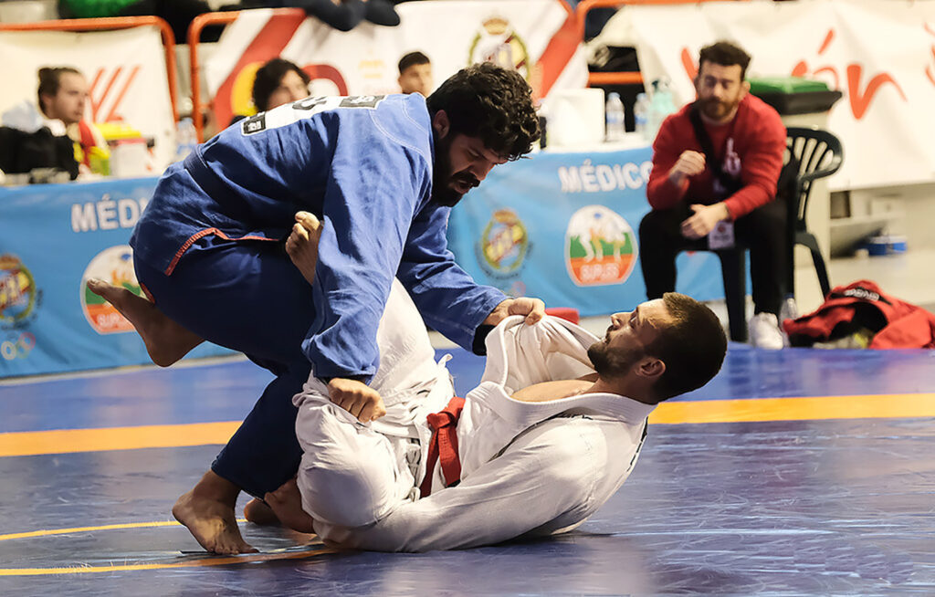
[[(935, 393), (665, 402), (651, 423), (935, 417)], [(237, 421), (0, 434), (0, 457), (222, 445)]]

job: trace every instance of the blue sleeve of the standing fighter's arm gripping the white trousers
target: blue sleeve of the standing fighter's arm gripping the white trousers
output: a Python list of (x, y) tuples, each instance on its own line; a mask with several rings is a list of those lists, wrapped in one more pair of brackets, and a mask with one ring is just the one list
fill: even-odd
[(376, 373), (377, 328), (429, 180), (425, 157), (388, 135), (339, 139), (324, 189), (315, 320), (302, 342), (316, 377), (368, 383)]

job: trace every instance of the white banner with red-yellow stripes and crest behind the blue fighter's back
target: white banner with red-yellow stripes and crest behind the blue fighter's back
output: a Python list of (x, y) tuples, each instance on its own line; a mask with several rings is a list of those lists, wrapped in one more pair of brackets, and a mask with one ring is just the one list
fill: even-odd
[(312, 92), (324, 95), (399, 92), (396, 64), (413, 50), (431, 59), (436, 85), (485, 60), (513, 66), (539, 96), (586, 85), (583, 47), (563, 0), (424, 0), (396, 11), (397, 27), (363, 22), (347, 33), (311, 18), (245, 11), (204, 68), (218, 121), (249, 109), (256, 68), (277, 55), (302, 66)]

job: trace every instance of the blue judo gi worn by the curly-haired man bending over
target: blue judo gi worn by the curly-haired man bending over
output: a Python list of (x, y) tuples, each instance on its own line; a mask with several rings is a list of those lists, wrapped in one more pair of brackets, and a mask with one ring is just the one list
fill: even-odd
[[(449, 207), (430, 202), (424, 98), (309, 97), (223, 131), (165, 171), (130, 244), (156, 305), (277, 378), (211, 465), (253, 495), (295, 474), (292, 397), (317, 377), (369, 381), (393, 277), (462, 347), (506, 296), (453, 261)], [(324, 223), (315, 283), (282, 240), (295, 212)]]

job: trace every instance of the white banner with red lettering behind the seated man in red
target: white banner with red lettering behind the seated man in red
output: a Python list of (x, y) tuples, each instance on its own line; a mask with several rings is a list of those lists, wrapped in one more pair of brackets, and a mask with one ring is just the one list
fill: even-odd
[(635, 46), (646, 81), (695, 98), (698, 50), (726, 39), (753, 56), (748, 77), (803, 76), (843, 93), (827, 129), (844, 163), (834, 190), (935, 180), (935, 2), (813, 0), (630, 6), (597, 44)]

